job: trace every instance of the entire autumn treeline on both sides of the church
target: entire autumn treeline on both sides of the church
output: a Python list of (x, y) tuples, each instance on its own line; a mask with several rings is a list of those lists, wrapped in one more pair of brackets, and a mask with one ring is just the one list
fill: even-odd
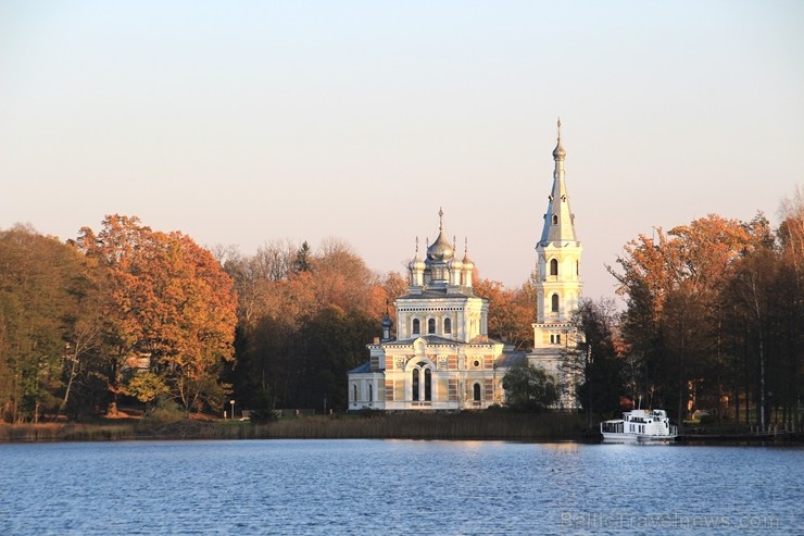
[[(717, 215), (626, 245), (608, 270), (626, 300), (582, 301), (580, 351), (565, 370), (589, 423), (623, 403), (695, 409), (765, 425), (799, 419), (804, 377), (804, 201), (772, 229)], [(137, 217), (108, 216), (66, 242), (0, 230), (3, 421), (115, 414), (176, 401), (186, 411), (342, 411), (347, 371), (405, 294), (344, 241), (267, 242), (254, 254), (198, 246)], [(489, 335), (532, 346), (533, 278), (480, 279)], [(771, 416), (772, 412), (772, 416)]]

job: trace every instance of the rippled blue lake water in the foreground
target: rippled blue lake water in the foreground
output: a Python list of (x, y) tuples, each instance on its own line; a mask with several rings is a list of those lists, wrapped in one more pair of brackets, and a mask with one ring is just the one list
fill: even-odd
[(0, 445), (0, 534), (804, 534), (804, 449)]

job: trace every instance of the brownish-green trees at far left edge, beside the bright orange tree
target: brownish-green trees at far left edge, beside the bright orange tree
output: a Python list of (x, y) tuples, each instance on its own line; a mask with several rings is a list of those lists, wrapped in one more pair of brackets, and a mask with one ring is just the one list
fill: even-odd
[(0, 413), (36, 422), (64, 400), (62, 373), (74, 358), (73, 279), (83, 271), (74, 248), (29, 226), (0, 232)]

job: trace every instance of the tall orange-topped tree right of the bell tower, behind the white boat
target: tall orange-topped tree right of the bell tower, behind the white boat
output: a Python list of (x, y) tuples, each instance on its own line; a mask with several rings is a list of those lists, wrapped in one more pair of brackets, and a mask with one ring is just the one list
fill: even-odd
[(719, 404), (720, 296), (751, 238), (740, 222), (717, 215), (655, 233), (626, 245), (620, 271), (608, 270), (627, 297), (623, 335), (639, 361), (640, 390), (652, 403), (676, 406), (680, 420), (695, 397)]

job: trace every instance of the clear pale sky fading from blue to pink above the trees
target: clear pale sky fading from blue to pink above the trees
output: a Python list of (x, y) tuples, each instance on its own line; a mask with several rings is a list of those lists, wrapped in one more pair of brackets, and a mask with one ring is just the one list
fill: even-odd
[(653, 227), (777, 224), (804, 188), (804, 2), (0, 0), (0, 228), (338, 238), (385, 273), (442, 208), (513, 288), (558, 116), (588, 298)]

